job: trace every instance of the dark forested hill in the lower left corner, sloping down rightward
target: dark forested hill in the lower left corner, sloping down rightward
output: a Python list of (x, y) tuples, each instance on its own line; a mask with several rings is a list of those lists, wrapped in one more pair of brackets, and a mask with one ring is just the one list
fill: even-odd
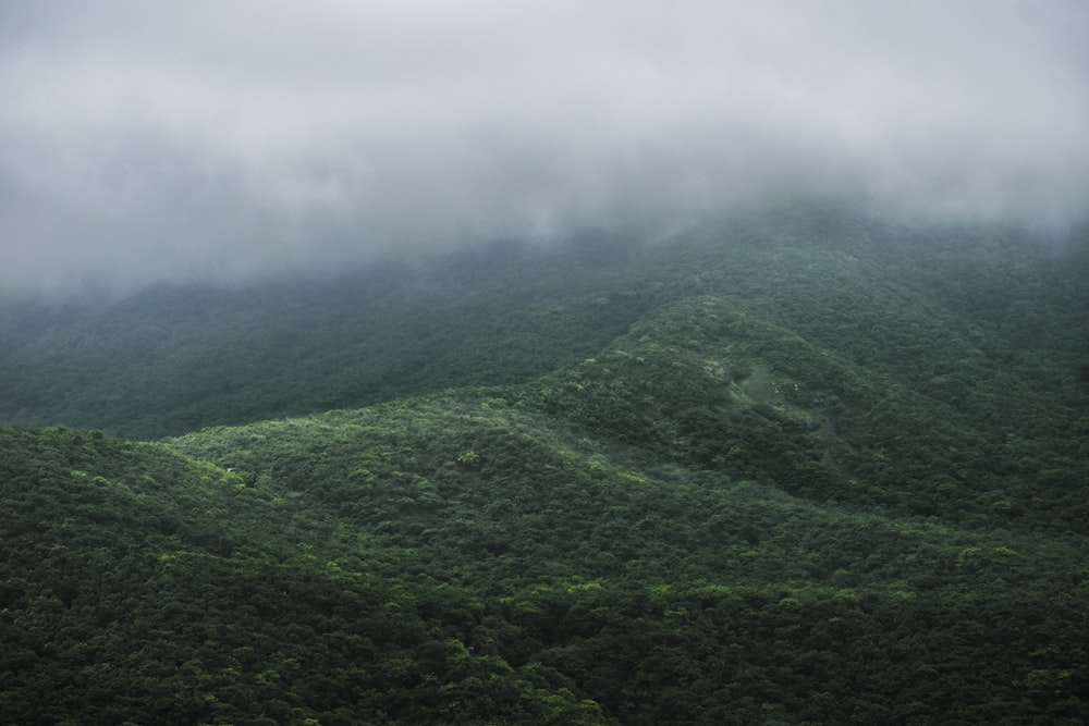
[(423, 603), (468, 593), (344, 522), (160, 445), (0, 439), (5, 723), (600, 723), (453, 640)]

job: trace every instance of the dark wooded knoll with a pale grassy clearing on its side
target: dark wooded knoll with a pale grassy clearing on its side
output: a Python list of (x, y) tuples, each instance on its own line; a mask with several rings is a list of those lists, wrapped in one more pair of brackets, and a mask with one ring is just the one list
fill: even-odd
[(996, 418), (904, 378), (705, 296), (645, 319), (526, 396), (645, 452), (821, 503), (1086, 533), (1084, 407), (1053, 394), (1013, 401), (1002, 379), (954, 394), (1004, 396)]

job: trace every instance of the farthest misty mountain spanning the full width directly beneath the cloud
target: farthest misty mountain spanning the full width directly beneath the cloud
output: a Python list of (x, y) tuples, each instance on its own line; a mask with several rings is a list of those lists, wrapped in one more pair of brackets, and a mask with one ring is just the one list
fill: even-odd
[[(1001, 417), (1041, 396), (1068, 407), (1084, 401), (1078, 370), (1089, 360), (1089, 234), (1069, 246), (803, 207), (658, 243), (597, 232), (325, 279), (0, 300), (0, 422), (149, 440), (525, 382), (698, 295), (954, 411)], [(978, 384), (1015, 395), (977, 396)], [(1065, 413), (1040, 414), (1016, 413), (1069, 427)]]

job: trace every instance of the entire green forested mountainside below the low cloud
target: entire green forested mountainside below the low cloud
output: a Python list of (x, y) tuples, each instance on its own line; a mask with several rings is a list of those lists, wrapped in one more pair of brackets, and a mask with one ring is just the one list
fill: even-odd
[(189, 432), (0, 429), (0, 719), (1085, 723), (1085, 251), (794, 211), (10, 308), (9, 420)]

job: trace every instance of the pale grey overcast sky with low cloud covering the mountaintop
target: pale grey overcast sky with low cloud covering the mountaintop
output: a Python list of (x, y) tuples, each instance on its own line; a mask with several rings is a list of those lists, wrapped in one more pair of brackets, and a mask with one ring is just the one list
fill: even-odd
[(1084, 0), (3, 0), (0, 290), (811, 194), (1061, 223), (1087, 128)]

